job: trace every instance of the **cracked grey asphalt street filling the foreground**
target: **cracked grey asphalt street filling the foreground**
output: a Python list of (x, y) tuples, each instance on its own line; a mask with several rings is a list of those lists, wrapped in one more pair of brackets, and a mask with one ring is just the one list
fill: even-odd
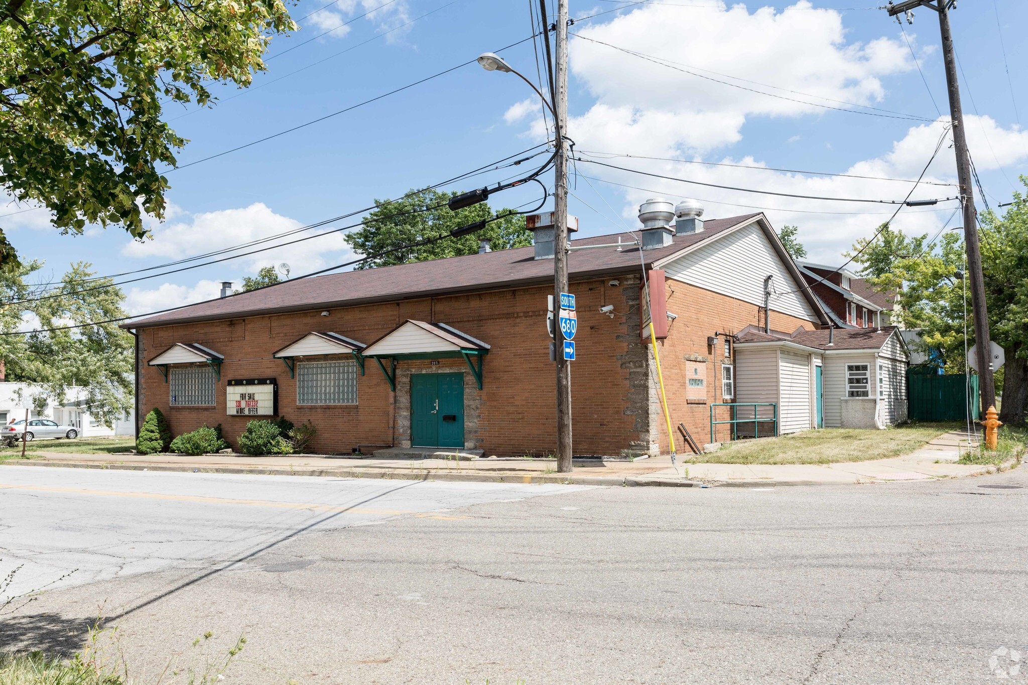
[(212, 631), (248, 640), (225, 683), (1028, 682), (1021, 469), (775, 489), (0, 483), (5, 567), (81, 583), (4, 617), (0, 645), (74, 649), (102, 615), (137, 677)]

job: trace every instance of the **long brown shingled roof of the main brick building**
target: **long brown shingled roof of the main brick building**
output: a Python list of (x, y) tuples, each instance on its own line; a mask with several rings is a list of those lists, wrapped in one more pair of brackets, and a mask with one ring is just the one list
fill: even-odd
[[(645, 251), (642, 262), (649, 267), (680, 250), (702, 242), (740, 224), (748, 223), (760, 216), (761, 214), (757, 213), (706, 221), (700, 233), (675, 235), (670, 245)], [(618, 235), (623, 233), (579, 238), (574, 240), (573, 244), (614, 242), (617, 241)], [(273, 288), (230, 295), (164, 314), (140, 318), (123, 324), (122, 328), (142, 329), (186, 321), (348, 307), (431, 295), (524, 288), (552, 282), (553, 262), (548, 259), (534, 259), (534, 255), (535, 248), (516, 248), (377, 269), (297, 278)], [(629, 245), (620, 252), (614, 249), (582, 250), (568, 255), (568, 271), (573, 279), (625, 274), (639, 268), (638, 249), (634, 245)]]

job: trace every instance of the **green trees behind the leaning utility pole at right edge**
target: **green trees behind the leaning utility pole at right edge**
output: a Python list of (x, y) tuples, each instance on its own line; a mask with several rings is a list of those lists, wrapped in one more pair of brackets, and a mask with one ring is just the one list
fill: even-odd
[[(1028, 177), (1021, 177), (1028, 185)], [(1000, 420), (1023, 424), (1028, 411), (1028, 196), (1014, 194), (1014, 204), (1002, 217), (992, 211), (979, 215), (982, 269), (993, 341), (1005, 351), (1006, 363), (997, 374), (1002, 392)], [(957, 276), (964, 270), (964, 244), (956, 232), (946, 231), (934, 244), (928, 236), (907, 236), (885, 227), (879, 239), (860, 239), (852, 256), (862, 273), (880, 292), (897, 291), (905, 328), (922, 330), (922, 346), (943, 353), (948, 373), (963, 373), (966, 344), (975, 344), (970, 294)], [(965, 318), (966, 307), (966, 318)]]

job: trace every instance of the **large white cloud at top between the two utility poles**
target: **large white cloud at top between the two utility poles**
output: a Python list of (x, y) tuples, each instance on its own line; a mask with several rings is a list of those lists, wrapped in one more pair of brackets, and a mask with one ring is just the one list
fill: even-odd
[(741, 5), (709, 4), (711, 9), (688, 14), (680, 7), (646, 5), (607, 24), (573, 30), (707, 77), (573, 39), (572, 71), (596, 99), (568, 126), (580, 148), (610, 149), (631, 140), (650, 152), (709, 151), (738, 142), (748, 116), (827, 111), (810, 102), (877, 103), (884, 97), (881, 77), (914, 68), (905, 44), (890, 38), (848, 42), (842, 14), (814, 9), (806, 0), (752, 13)]

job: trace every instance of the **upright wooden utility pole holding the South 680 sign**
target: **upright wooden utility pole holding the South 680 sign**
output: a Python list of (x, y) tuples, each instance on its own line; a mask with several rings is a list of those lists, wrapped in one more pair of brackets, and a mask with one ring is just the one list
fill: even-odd
[[(546, 21), (546, 17), (543, 17)], [(567, 292), (567, 153), (563, 132), (567, 127), (567, 0), (557, 0), (554, 97), (556, 159), (553, 166), (553, 301)], [(566, 473), (572, 463), (572, 365), (563, 355), (563, 332), (554, 326), (557, 363), (557, 472)]]

